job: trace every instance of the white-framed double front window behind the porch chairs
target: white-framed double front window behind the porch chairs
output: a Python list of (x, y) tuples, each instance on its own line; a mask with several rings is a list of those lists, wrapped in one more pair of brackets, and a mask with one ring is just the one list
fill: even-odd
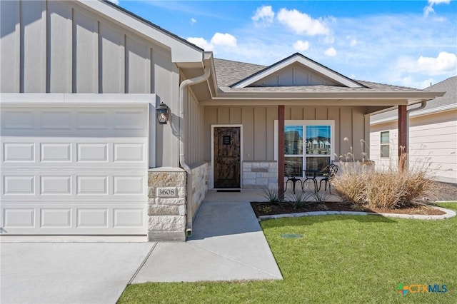
[(321, 171), (333, 159), (333, 121), (285, 121), (284, 162), (296, 173)]

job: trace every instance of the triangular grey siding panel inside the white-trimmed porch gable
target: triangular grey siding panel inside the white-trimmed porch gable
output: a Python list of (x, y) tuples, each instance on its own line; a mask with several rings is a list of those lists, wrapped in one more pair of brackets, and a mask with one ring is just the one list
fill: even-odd
[(332, 78), (295, 63), (286, 66), (249, 86), (341, 86)]

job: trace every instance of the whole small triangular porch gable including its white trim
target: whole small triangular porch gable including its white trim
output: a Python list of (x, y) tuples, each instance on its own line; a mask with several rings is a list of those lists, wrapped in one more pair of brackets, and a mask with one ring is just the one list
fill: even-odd
[(348, 88), (364, 87), (361, 83), (298, 53), (234, 83), (231, 87), (318, 85), (345, 86)]

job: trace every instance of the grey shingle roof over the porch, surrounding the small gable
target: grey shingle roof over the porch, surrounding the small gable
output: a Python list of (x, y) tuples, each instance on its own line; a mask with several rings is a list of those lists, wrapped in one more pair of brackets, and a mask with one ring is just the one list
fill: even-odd
[(383, 83), (374, 83), (370, 81), (354, 80), (361, 83), (366, 88), (348, 88), (344, 86), (262, 86), (262, 87), (246, 87), (246, 88), (231, 88), (233, 83), (258, 73), (266, 68), (258, 64), (247, 64), (239, 61), (231, 61), (225, 59), (214, 59), (216, 69), (216, 78), (219, 89), (223, 92), (371, 92), (371, 91), (422, 91), (417, 88), (407, 88), (404, 86), (393, 86)]

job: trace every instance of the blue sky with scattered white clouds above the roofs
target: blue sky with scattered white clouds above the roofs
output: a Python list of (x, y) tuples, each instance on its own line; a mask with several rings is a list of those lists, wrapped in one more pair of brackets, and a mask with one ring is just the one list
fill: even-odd
[(216, 58), (299, 52), (358, 80), (425, 88), (457, 75), (457, 1), (112, 0)]

